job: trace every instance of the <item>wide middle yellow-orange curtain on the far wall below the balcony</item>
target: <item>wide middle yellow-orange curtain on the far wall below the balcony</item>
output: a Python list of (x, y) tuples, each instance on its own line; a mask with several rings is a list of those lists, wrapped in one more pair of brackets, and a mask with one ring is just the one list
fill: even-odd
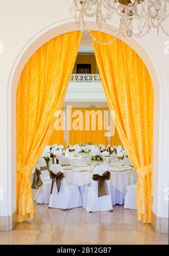
[[(96, 116), (96, 130), (92, 130), (95, 129), (95, 127), (92, 127), (92, 120), (91, 117), (90, 119), (86, 118), (85, 120), (85, 112), (86, 111), (94, 111), (95, 113), (98, 113), (97, 111), (100, 111), (102, 114), (102, 122), (104, 123), (104, 111), (108, 111), (108, 109), (90, 109), (90, 108), (73, 108), (72, 109), (72, 115), (75, 114), (75, 111), (81, 111), (83, 114), (83, 129), (81, 127), (81, 130), (70, 130), (69, 131), (69, 144), (81, 144), (81, 143), (88, 143), (88, 142), (92, 142), (94, 144), (104, 144), (107, 145), (108, 144), (108, 137), (105, 136), (105, 132), (106, 130), (103, 129), (99, 130), (98, 129), (98, 123), (99, 123), (99, 118), (98, 116)], [(78, 116), (77, 116), (78, 117)], [(73, 122), (75, 121), (75, 119), (77, 117), (72, 117), (72, 125)], [(88, 123), (89, 125), (89, 130), (85, 130), (85, 126), (84, 124), (87, 123), (87, 120), (90, 120), (90, 123)]]

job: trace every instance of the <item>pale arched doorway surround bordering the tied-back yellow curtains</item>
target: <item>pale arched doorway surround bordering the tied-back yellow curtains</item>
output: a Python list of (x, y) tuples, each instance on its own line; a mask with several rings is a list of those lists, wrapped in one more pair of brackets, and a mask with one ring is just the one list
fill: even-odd
[[(96, 24), (94, 22), (87, 23), (87, 30), (95, 30)], [(15, 188), (15, 180), (16, 180), (16, 155), (15, 155), (15, 148), (16, 148), (16, 88), (17, 82), (20, 77), (20, 73), (24, 68), (26, 61), (30, 58), (37, 48), (39, 48), (43, 43), (49, 41), (51, 38), (59, 36), (59, 34), (63, 34), (66, 32), (70, 32), (72, 30), (77, 30), (75, 24), (73, 22), (65, 23), (65, 24), (54, 24), (50, 28), (46, 28), (43, 31), (39, 32), (34, 38), (32, 38), (23, 50), (20, 52), (17, 60), (14, 63), (14, 66), (11, 70), (10, 80), (8, 82), (8, 122), (11, 124), (9, 130), (9, 142), (8, 142), (8, 149), (10, 155), (8, 156), (8, 163), (9, 163), (9, 170), (12, 170), (10, 173), (10, 186), (11, 186), (11, 195), (12, 195), (12, 206), (11, 208), (15, 210), (16, 205), (16, 188)], [(103, 32), (109, 33), (106, 28), (103, 28)], [(159, 94), (159, 85), (161, 84), (160, 76), (158, 73), (158, 67), (154, 67), (153, 57), (150, 55), (150, 52), (144, 47), (141, 41), (136, 41), (135, 39), (126, 39), (125, 41), (127, 45), (131, 46), (137, 54), (143, 59), (146, 67), (149, 70), (150, 76), (152, 78), (153, 87), (154, 87), (154, 155), (158, 155), (159, 151), (159, 120), (162, 115), (159, 114), (158, 105), (160, 101)], [(161, 111), (161, 109), (160, 109)], [(161, 111), (162, 112), (162, 111)], [(160, 161), (158, 158), (154, 158), (154, 174), (158, 176), (158, 168), (159, 168)], [(154, 178), (155, 179), (155, 178)], [(155, 180), (153, 180), (153, 184), (155, 186)], [(155, 191), (155, 189), (154, 189)]]

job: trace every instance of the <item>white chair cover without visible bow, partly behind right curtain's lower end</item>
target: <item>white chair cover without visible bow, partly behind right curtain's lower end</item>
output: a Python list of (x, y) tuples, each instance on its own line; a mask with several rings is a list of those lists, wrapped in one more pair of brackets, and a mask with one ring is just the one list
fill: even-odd
[(127, 186), (127, 192), (124, 200), (124, 209), (136, 210), (136, 191), (137, 185)]

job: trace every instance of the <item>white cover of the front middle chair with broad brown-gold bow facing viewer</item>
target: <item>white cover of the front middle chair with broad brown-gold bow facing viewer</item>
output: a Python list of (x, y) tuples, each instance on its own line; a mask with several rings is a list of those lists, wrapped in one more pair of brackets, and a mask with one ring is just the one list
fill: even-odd
[[(103, 175), (105, 171), (110, 171), (109, 166), (96, 166), (94, 174)], [(110, 180), (105, 180), (109, 195), (98, 197), (98, 181), (92, 180), (91, 187), (86, 187), (83, 193), (83, 208), (86, 211), (109, 211), (113, 210), (112, 199), (110, 195)]]

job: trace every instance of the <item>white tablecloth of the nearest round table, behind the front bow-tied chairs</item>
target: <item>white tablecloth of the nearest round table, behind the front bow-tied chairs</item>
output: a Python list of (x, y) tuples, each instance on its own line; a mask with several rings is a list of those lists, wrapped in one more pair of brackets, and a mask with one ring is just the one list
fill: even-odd
[[(87, 169), (87, 167), (86, 167)], [(64, 174), (67, 184), (73, 184), (79, 186), (79, 191), (83, 197), (83, 191), (85, 187), (91, 186), (93, 171), (91, 170), (66, 170), (64, 168)], [(112, 204), (124, 204), (124, 198), (126, 195), (126, 188), (128, 185), (135, 184), (137, 182), (137, 174), (134, 168), (132, 170), (125, 171), (111, 171), (110, 172), (110, 192), (112, 196)]]

